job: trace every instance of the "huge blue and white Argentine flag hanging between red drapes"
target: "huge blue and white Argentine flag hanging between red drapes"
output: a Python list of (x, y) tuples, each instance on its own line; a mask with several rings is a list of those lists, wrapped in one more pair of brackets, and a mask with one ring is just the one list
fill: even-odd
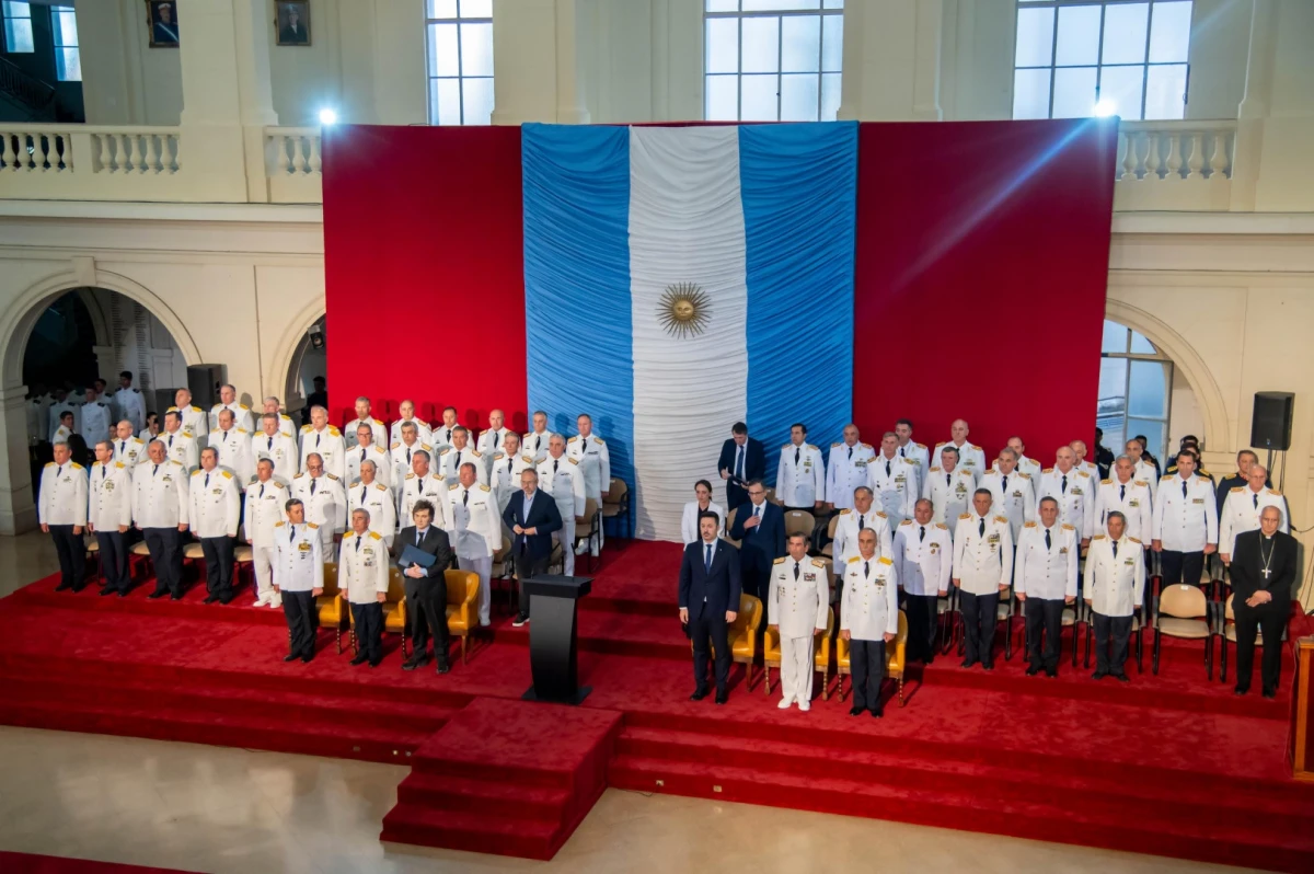
[[(767, 446), (837, 435), (853, 407), (858, 125), (526, 125), (530, 409), (591, 413), (636, 534), (679, 539), (694, 481), (719, 486), (731, 425)], [(661, 297), (707, 296), (678, 336)]]

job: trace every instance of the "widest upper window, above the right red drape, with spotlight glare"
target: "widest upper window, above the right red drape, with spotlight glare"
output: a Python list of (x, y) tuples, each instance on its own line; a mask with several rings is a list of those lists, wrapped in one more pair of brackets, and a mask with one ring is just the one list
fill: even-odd
[(1013, 118), (1181, 118), (1190, 11), (1190, 0), (1018, 0)]

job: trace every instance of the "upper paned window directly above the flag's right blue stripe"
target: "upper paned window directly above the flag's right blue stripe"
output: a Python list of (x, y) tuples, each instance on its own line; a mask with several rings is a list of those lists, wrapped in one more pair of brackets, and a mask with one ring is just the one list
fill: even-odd
[(844, 0), (704, 3), (704, 118), (834, 121)]

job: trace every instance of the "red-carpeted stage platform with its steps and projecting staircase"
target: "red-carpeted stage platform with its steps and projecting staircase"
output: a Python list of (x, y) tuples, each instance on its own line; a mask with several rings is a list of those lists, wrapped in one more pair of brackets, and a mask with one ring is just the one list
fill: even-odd
[(1147, 652), (1130, 683), (1068, 660), (1025, 677), (1017, 652), (992, 674), (938, 658), (909, 669), (905, 707), (887, 685), (879, 720), (821, 701), (820, 683), (811, 712), (779, 711), (736, 665), (717, 707), (689, 701), (678, 560), (678, 545), (608, 541), (581, 602), (594, 691), (577, 710), (519, 701), (528, 631), (509, 615), (447, 676), (402, 672), (397, 636), (380, 668), (351, 668), (327, 630), (311, 664), (284, 664), (281, 612), (246, 589), (223, 607), (200, 586), (170, 602), (147, 601), (151, 582), (120, 599), (47, 578), (0, 601), (0, 723), (409, 764), (384, 840), (530, 858), (606, 785), (1314, 870), (1314, 786), (1286, 762), (1289, 657), (1273, 702), (1236, 698), (1217, 664), (1206, 679), (1201, 644), (1168, 641), (1160, 674)]

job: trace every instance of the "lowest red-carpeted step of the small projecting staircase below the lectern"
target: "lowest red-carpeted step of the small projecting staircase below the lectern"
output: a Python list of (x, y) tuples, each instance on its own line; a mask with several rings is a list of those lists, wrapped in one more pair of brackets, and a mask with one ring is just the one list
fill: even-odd
[(378, 840), (545, 861), (569, 837), (562, 832), (540, 820), (398, 804), (384, 816)]

